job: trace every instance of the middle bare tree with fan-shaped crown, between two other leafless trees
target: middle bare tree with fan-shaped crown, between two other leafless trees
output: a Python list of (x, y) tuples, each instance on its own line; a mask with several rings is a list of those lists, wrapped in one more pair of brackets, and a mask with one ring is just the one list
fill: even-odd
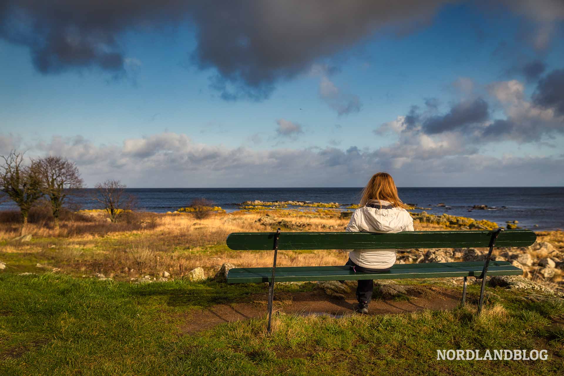
[(49, 156), (33, 162), (36, 163), (39, 176), (43, 180), (55, 218), (55, 228), (59, 228), (59, 214), (68, 195), (76, 194), (77, 189), (82, 188), (84, 180), (81, 179), (76, 164), (67, 158)]

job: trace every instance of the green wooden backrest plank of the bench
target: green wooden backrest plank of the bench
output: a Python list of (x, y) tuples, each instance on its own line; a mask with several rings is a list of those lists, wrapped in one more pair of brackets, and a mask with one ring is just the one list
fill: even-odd
[[(494, 231), (282, 232), (280, 250), (406, 249), (488, 247)], [(272, 250), (275, 232), (234, 232), (227, 237), (232, 250)], [(536, 241), (530, 230), (506, 230), (496, 247), (527, 247)]]

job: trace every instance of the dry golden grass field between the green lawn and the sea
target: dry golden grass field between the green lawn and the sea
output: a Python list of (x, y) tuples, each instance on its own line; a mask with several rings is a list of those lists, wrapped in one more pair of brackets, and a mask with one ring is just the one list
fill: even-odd
[[(162, 271), (177, 278), (196, 267), (213, 275), (224, 262), (239, 267), (268, 267), (272, 264), (272, 251), (232, 251), (225, 245), (231, 232), (274, 230), (276, 225), (265, 226), (257, 222), (266, 213), (216, 213), (205, 219), (195, 219), (192, 214), (135, 213), (124, 216), (119, 223), (109, 223), (103, 215), (92, 213), (69, 216), (61, 221), (59, 229), (38, 215), (36, 222), (28, 227), (33, 241), (23, 244), (9, 241), (19, 235), (17, 222), (0, 223), (0, 241), (5, 244), (0, 249), (0, 259), (8, 265), (25, 264), (34, 268), (33, 259), (46, 264), (47, 268), (58, 267), (68, 273), (91, 275), (101, 272), (120, 279), (156, 276)], [(302, 228), (285, 228), (284, 231), (344, 231), (349, 222), (331, 214), (270, 215), (277, 220), (305, 224)], [(444, 229), (418, 221), (414, 227), (429, 231)], [(541, 237), (557, 244), (564, 243), (562, 232), (543, 233)], [(279, 251), (277, 265), (342, 265), (347, 256), (346, 252), (335, 250)], [(558, 278), (561, 276), (555, 276)]]

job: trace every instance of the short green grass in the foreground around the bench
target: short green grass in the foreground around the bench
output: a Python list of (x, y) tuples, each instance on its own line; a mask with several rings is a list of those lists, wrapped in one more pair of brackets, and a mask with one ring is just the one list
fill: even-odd
[[(285, 286), (281, 289), (297, 289)], [(475, 295), (477, 286), (469, 286)], [(0, 273), (0, 375), (550, 375), (564, 369), (562, 302), (496, 289), (471, 308), (404, 315), (275, 316), (180, 329), (186, 312), (244, 302), (265, 285), (134, 285)], [(492, 302), (496, 308), (492, 308)], [(263, 309), (263, 308), (258, 308)], [(439, 349), (547, 349), (547, 361), (442, 361)]]

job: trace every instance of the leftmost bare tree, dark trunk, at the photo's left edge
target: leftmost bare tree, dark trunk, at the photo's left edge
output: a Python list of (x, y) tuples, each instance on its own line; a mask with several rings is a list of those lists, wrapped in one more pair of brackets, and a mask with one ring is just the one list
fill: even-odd
[(28, 224), (29, 210), (44, 194), (43, 183), (37, 169), (37, 163), (23, 165), (24, 153), (11, 151), (0, 165), (0, 183), (4, 193), (16, 202), (21, 212), (21, 235)]

